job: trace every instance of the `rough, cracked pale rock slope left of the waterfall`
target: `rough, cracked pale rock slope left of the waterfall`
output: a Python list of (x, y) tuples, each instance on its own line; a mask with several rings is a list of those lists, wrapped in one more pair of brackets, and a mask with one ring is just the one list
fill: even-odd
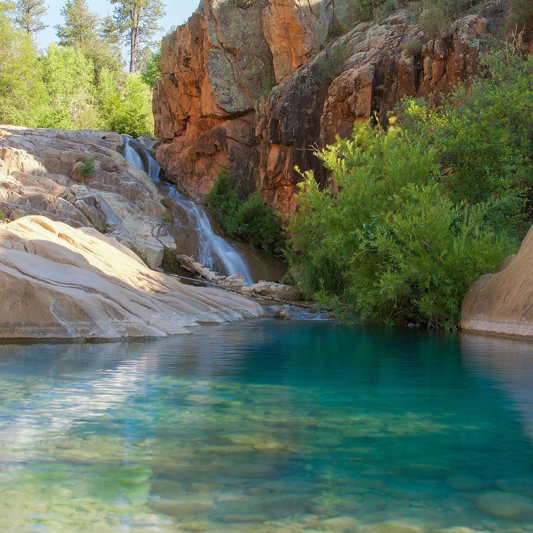
[[(0, 126), (0, 209), (9, 219), (36, 214), (74, 228), (92, 225), (159, 266), (174, 238), (161, 196), (120, 155), (123, 144), (116, 133)], [(94, 172), (85, 175), (88, 158)]]

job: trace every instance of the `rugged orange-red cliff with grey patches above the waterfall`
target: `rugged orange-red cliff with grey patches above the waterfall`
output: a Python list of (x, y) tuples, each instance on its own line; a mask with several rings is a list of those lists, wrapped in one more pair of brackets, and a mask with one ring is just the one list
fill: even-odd
[(469, 15), (430, 39), (406, 12), (359, 25), (352, 12), (351, 0), (201, 0), (161, 52), (154, 115), (167, 176), (201, 201), (229, 167), (290, 212), (295, 165), (325, 179), (311, 146), (374, 112), (386, 120), (403, 96), (438, 98), (467, 79), (488, 24)]

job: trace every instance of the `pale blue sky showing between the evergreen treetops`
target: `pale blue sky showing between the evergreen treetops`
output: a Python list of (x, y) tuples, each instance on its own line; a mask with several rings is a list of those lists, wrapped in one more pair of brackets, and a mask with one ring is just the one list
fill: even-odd
[[(46, 2), (48, 12), (44, 18), (44, 22), (49, 25), (49, 27), (37, 35), (39, 48), (44, 49), (51, 42), (57, 40), (54, 26), (63, 23), (61, 9), (64, 3), (65, 0), (48, 0)], [(89, 9), (98, 13), (100, 17), (106, 17), (106, 15), (112, 14), (113, 12), (114, 6), (108, 0), (87, 0), (87, 4)], [(171, 26), (179, 26), (181, 23), (185, 22), (191, 13), (198, 7), (199, 0), (168, 0), (165, 4), (166, 15), (159, 23), (159, 26), (162, 26), (164, 31), (161, 31), (157, 38), (164, 35)]]

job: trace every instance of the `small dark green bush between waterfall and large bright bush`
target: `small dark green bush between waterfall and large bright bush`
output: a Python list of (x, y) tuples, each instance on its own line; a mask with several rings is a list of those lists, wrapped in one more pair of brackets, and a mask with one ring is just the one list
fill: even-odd
[(206, 196), (207, 207), (230, 237), (264, 252), (279, 254), (283, 245), (279, 217), (265, 206), (259, 193), (245, 195), (243, 190), (233, 188), (231, 182), (231, 174), (222, 168)]

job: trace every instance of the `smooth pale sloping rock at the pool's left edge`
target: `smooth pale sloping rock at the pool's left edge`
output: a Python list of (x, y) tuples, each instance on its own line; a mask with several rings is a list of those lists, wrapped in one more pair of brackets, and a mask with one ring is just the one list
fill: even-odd
[(161, 337), (262, 314), (150, 270), (114, 237), (42, 216), (0, 227), (0, 294), (1, 338)]

